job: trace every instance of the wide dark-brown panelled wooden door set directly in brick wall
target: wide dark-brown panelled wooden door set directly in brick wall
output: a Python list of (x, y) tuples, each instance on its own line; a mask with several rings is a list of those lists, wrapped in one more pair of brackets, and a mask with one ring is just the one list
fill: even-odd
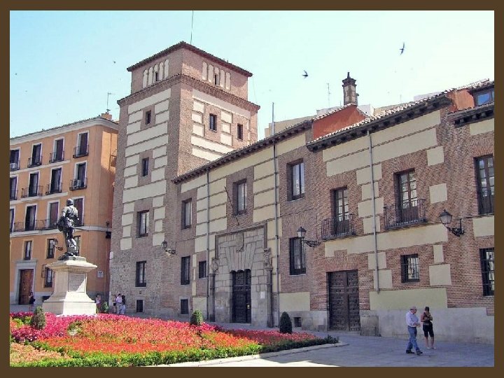
[(328, 273), (329, 327), (333, 330), (360, 330), (358, 271)]

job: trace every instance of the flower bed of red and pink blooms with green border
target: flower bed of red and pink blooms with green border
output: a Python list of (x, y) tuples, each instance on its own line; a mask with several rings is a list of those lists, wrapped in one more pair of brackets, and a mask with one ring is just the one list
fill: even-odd
[(29, 325), (30, 316), (31, 313), (10, 314), (12, 345), (27, 344), (40, 356), (31, 353), (29, 358), (23, 358), (29, 353), (22, 353), (18, 346), (13, 350), (11, 346), (11, 366), (160, 365), (337, 342), (306, 332), (223, 330), (207, 323), (197, 326), (114, 314), (46, 313), (47, 325), (36, 330)]

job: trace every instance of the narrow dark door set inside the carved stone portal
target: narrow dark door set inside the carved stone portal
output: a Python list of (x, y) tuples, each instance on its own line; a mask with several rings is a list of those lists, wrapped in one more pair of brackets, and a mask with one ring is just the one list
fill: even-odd
[(251, 323), (251, 271), (232, 272), (232, 322)]

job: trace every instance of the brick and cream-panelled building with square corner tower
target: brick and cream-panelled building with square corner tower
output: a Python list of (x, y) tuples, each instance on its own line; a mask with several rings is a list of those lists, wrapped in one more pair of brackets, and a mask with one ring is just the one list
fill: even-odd
[(233, 111), (253, 136), (257, 106), (216, 88), (248, 75), (225, 63), (182, 43), (130, 67), (111, 255), (127, 311), (399, 336), (428, 305), (437, 339), (493, 342), (493, 82), (368, 116), (347, 76), (344, 106), (247, 144)]

